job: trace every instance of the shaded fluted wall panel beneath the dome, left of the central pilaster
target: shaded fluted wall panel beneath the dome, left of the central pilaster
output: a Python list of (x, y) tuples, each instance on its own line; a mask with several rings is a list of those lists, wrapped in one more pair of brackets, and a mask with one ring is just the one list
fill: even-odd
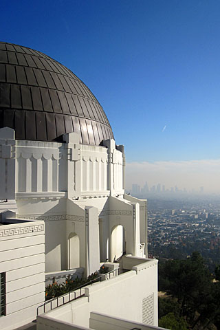
[(16, 192), (22, 196), (22, 192), (42, 194), (65, 191), (67, 189), (65, 154), (61, 143), (17, 141)]

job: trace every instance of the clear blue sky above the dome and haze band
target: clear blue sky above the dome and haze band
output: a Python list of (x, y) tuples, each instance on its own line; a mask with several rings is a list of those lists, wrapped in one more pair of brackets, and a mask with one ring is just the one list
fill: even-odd
[(219, 17), (213, 0), (1, 0), (0, 40), (72, 69), (127, 162), (219, 159)]

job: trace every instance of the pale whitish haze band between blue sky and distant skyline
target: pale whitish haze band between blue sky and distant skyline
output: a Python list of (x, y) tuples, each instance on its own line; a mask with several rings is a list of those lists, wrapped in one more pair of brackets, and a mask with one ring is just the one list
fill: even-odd
[(205, 194), (220, 193), (220, 159), (202, 159), (170, 162), (126, 163), (126, 189), (132, 184), (144, 186), (165, 185), (166, 189), (200, 190)]

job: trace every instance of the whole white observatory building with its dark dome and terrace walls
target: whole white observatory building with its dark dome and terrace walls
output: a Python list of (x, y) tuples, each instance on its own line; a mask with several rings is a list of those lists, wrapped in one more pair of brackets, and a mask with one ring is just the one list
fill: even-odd
[[(146, 201), (124, 194), (124, 166), (124, 146), (73, 72), (0, 43), (1, 329), (37, 314), (38, 330), (157, 326)], [(54, 279), (100, 267), (100, 283), (45, 303)]]

